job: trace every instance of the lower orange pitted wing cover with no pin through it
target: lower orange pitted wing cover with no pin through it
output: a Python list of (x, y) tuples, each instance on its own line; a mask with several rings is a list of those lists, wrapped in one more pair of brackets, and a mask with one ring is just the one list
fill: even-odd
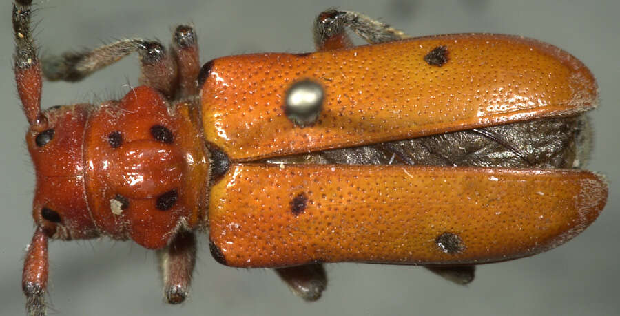
[(211, 190), (209, 229), (229, 266), (479, 264), (570, 240), (606, 198), (589, 171), (234, 165)]

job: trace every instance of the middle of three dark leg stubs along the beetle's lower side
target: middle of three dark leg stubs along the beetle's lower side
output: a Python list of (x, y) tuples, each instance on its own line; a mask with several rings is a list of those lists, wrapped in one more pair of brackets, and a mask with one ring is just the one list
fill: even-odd
[(327, 286), (327, 275), (322, 264), (305, 264), (275, 270), (295, 295), (308, 302), (319, 299)]

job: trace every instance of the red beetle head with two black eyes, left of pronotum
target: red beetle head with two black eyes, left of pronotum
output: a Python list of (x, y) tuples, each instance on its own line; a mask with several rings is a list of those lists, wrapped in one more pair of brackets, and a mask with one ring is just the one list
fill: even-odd
[(43, 122), (26, 134), (37, 172), (32, 216), (52, 238), (79, 239), (97, 235), (88, 213), (83, 165), (83, 135), (90, 105), (52, 107)]

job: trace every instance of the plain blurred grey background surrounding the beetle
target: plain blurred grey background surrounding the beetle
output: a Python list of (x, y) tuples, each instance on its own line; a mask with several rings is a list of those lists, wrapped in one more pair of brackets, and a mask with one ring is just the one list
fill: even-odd
[[(247, 52), (313, 50), (313, 17), (330, 6), (357, 10), (409, 34), (497, 32), (553, 43), (594, 72), (601, 107), (592, 115), (589, 168), (610, 180), (610, 198), (592, 227), (542, 255), (479, 267), (473, 284), (450, 284), (422, 268), (330, 264), (329, 288), (316, 303), (293, 297), (271, 271), (220, 266), (204, 236), (192, 297), (167, 306), (154, 253), (130, 242), (50, 244), (51, 302), (60, 315), (611, 315), (620, 282), (618, 61), (620, 1), (37, 1), (42, 52), (147, 36), (167, 42), (177, 23), (194, 23), (201, 58)], [(33, 231), (34, 174), (23, 144), (26, 122), (11, 73), (10, 4), (0, 5), (0, 314), (23, 315), (21, 265)], [(118, 98), (137, 84), (136, 56), (83, 83), (45, 83), (43, 106)]]

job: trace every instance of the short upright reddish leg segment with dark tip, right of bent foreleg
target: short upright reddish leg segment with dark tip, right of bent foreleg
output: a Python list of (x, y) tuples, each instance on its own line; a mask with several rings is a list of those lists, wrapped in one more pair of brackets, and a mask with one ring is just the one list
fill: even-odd
[(172, 37), (172, 51), (178, 65), (178, 96), (198, 94), (198, 72), (200, 72), (200, 56), (196, 32), (189, 25), (178, 25)]

